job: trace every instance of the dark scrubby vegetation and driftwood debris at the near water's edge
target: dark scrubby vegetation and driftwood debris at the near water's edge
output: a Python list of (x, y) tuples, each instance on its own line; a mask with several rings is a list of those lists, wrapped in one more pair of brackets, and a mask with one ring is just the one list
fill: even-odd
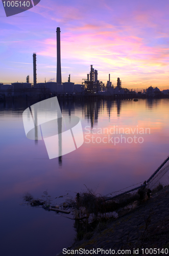
[(27, 193), (23, 200), (31, 206), (42, 207), (45, 210), (71, 212), (74, 216), (77, 240), (82, 240), (83, 238), (89, 239), (95, 231), (102, 231), (112, 220), (127, 214), (147, 198), (150, 198), (151, 192), (155, 193), (162, 188), (162, 185), (159, 185), (151, 191), (143, 187), (138, 189), (136, 193), (128, 193), (108, 200), (108, 197), (95, 194), (92, 189), (86, 187), (87, 190), (77, 193), (76, 198), (67, 197), (60, 205), (54, 204), (47, 191), (43, 192), (42, 199), (34, 199), (31, 194)]

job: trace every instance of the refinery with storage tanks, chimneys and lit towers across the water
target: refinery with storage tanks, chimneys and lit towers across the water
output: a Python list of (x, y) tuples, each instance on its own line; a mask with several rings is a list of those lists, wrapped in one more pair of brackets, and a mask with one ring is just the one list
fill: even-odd
[[(37, 65), (36, 65), (36, 53), (33, 53), (33, 84), (30, 83), (29, 75), (26, 77), (26, 82), (14, 82), (12, 84), (2, 84), (0, 86), (1, 93), (10, 96), (37, 96), (45, 94), (68, 94), (68, 95), (82, 95), (86, 94), (98, 94), (108, 92), (109, 95), (114, 94), (114, 89), (112, 83), (107, 81), (107, 86), (98, 80), (98, 70), (94, 70), (93, 66), (90, 66), (90, 72), (87, 74), (87, 79), (83, 79), (82, 84), (75, 84), (70, 82), (70, 75), (67, 82), (62, 82), (61, 74), (61, 42), (60, 42), (60, 28), (56, 29), (56, 41), (57, 41), (57, 72), (56, 72), (56, 82), (37, 82)], [(118, 91), (121, 90), (121, 81), (117, 78), (117, 88)]]

